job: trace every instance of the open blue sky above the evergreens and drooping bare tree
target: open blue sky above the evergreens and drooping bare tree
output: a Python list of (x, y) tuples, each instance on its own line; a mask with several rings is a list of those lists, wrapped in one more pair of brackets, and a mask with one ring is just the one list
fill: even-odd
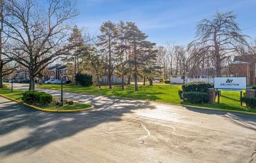
[(78, 27), (99, 33), (102, 22), (135, 22), (148, 40), (187, 45), (195, 38), (195, 26), (203, 18), (234, 11), (244, 34), (256, 38), (256, 0), (80, 0)]

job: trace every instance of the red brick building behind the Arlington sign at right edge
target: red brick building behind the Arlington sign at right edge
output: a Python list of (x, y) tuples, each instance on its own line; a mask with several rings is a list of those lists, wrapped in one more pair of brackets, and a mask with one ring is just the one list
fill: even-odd
[(230, 76), (247, 77), (248, 85), (256, 85), (256, 54), (235, 56), (229, 71)]

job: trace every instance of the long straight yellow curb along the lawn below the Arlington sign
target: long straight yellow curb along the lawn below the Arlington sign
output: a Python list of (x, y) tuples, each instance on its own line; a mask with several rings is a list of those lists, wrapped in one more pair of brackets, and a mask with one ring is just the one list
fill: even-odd
[[(38, 88), (41, 88), (41, 87), (38, 87)], [(49, 88), (42, 88), (42, 89), (49, 89)], [(59, 89), (49, 89), (49, 90), (60, 91)], [(65, 90), (63, 90), (63, 91), (65, 91)], [(84, 93), (84, 92), (75, 92), (75, 91), (66, 91), (66, 92), (91, 94), (91, 95), (96, 95), (96, 96), (104, 96), (104, 97), (112, 97), (112, 98), (114, 97), (114, 98), (121, 98), (121, 99), (128, 99), (128, 100), (139, 100), (139, 101), (147, 101), (147, 102), (149, 101), (149, 100), (140, 100), (140, 99), (135, 99), (135, 98), (106, 96), (106, 95), (102, 95), (102, 94), (93, 94), (93, 93)], [(159, 102), (159, 101), (150, 101), (150, 102), (178, 105), (178, 106), (183, 106), (183, 107), (191, 107), (191, 108), (195, 108), (195, 109), (217, 110), (217, 111), (223, 111), (223, 112), (236, 112), (236, 113), (256, 115), (256, 112), (245, 112), (245, 111), (238, 111), (238, 110), (226, 110), (226, 109), (218, 109), (218, 108), (210, 108), (210, 107), (199, 107), (199, 106), (193, 106), (193, 105), (182, 105), (182, 104), (178, 104), (178, 103), (167, 103), (167, 102)]]

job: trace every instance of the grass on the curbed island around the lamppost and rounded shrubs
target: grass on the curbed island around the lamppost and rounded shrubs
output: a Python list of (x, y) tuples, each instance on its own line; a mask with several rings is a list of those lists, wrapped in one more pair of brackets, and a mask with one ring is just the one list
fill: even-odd
[[(10, 98), (13, 98), (15, 100), (19, 100), (19, 101), (22, 101), (21, 100), (22, 92), (24, 92), (24, 91), (13, 89), (13, 93), (11, 93), (11, 89), (8, 89), (8, 88), (0, 89), (0, 94), (10, 97)], [(60, 107), (55, 104), (55, 100), (59, 100), (59, 98), (53, 97), (53, 102), (50, 103), (49, 105), (45, 105), (45, 106), (35, 105), (35, 106), (43, 108), (43, 109), (49, 109), (49, 110), (75, 110), (75, 109), (85, 109), (85, 108), (91, 107), (91, 105), (88, 105), (85, 103), (78, 103), (78, 102), (75, 102), (74, 105), (67, 105), (64, 102), (63, 106)]]

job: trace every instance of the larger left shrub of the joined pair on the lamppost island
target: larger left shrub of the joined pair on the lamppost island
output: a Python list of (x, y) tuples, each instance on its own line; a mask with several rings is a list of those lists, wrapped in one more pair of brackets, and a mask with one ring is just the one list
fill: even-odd
[(45, 92), (39, 92), (39, 91), (26, 91), (23, 92), (22, 100), (27, 103), (39, 103), (40, 96), (42, 94), (46, 94)]

